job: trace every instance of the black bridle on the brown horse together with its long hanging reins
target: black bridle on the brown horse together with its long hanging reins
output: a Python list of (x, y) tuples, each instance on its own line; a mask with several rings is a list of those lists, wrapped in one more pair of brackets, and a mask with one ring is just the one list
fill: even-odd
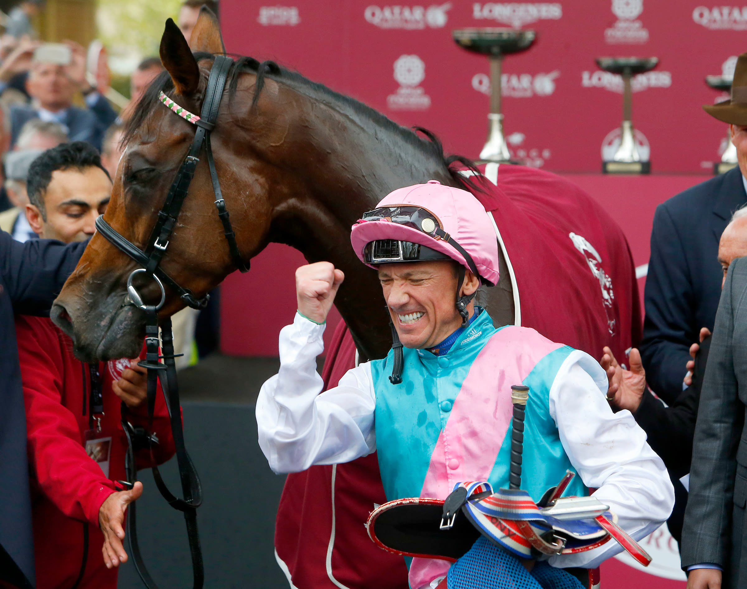
[[(171, 330), (170, 318), (161, 322), (161, 337), (159, 339), (158, 309), (161, 309), (166, 301), (164, 284), (179, 294), (179, 297), (182, 298), (188, 306), (193, 307), (193, 309), (203, 309), (208, 303), (209, 295), (205, 294), (204, 297), (198, 299), (190, 289), (179, 286), (175, 280), (160, 268), (160, 264), (169, 245), (169, 238), (176, 226), (177, 219), (179, 218), (179, 212), (182, 210), (182, 203), (184, 203), (184, 200), (187, 197), (190, 183), (192, 182), (196, 166), (199, 163), (199, 154), (204, 145), (205, 152), (207, 152), (208, 156), (210, 176), (213, 182), (215, 206), (218, 211), (218, 217), (223, 223), (223, 232), (229, 245), (232, 260), (236, 267), (242, 272), (249, 270), (249, 262), (245, 263), (241, 258), (241, 253), (239, 252), (238, 244), (236, 243), (236, 236), (232, 229), (231, 221), (229, 221), (229, 212), (226, 209), (226, 203), (223, 200), (223, 195), (220, 191), (220, 182), (218, 182), (218, 176), (215, 171), (213, 151), (210, 144), (210, 133), (215, 128), (215, 120), (217, 119), (218, 110), (220, 108), (220, 99), (223, 96), (223, 90), (226, 87), (226, 78), (232, 64), (233, 60), (229, 57), (223, 55), (217, 55), (215, 57), (215, 61), (210, 70), (210, 77), (208, 78), (208, 87), (205, 91), (205, 102), (202, 103), (202, 111), (199, 117), (177, 105), (176, 102), (173, 102), (172, 99), (161, 92), (161, 102), (188, 123), (196, 125), (197, 129), (189, 152), (187, 152), (187, 156), (179, 167), (179, 171), (176, 173), (176, 177), (172, 182), (164, 206), (162, 206), (161, 210), (158, 212), (158, 219), (152, 229), (145, 250), (140, 250), (139, 247), (121, 235), (120, 232), (117, 232), (117, 230), (109, 225), (109, 223), (104, 221), (103, 216), (96, 219), (96, 229), (107, 238), (108, 241), (114, 244), (115, 247), (122, 250), (142, 266), (142, 268), (137, 268), (132, 271), (128, 277), (127, 298), (129, 303), (137, 306), (139, 309), (143, 309), (146, 314), (146, 360), (138, 363), (138, 366), (142, 366), (148, 371), (148, 431), (141, 431), (140, 428), (136, 429), (132, 427), (132, 425), (127, 421), (126, 416), (128, 410), (123, 403), (122, 425), (128, 441), (128, 451), (125, 460), (128, 481), (120, 482), (125, 487), (132, 488), (134, 482), (137, 481), (137, 465), (135, 462), (136, 451), (139, 448), (149, 448), (152, 455), (153, 445), (158, 443), (155, 436), (150, 435), (149, 432), (152, 432), (155, 397), (158, 392), (158, 381), (160, 380), (161, 389), (163, 389), (169, 413), (171, 431), (174, 446), (176, 448), (176, 460), (179, 465), (179, 478), (182, 483), (182, 494), (184, 499), (179, 499), (170, 492), (164, 483), (163, 478), (161, 478), (161, 473), (158, 471), (157, 466), (153, 466), (152, 468), (153, 478), (155, 479), (155, 484), (158, 487), (158, 490), (161, 492), (161, 495), (164, 496), (164, 499), (167, 500), (169, 505), (185, 514), (187, 538), (189, 540), (190, 555), (192, 559), (194, 589), (202, 589), (205, 577), (196, 514), (196, 509), (202, 504), (202, 487), (195, 466), (192, 463), (189, 454), (187, 454), (184, 431), (182, 430), (182, 410), (179, 402), (179, 384), (176, 378), (175, 362), (176, 357), (181, 356), (182, 354), (174, 354), (173, 333)], [(140, 296), (140, 293), (137, 292), (137, 289), (132, 284), (132, 280), (137, 274), (146, 274), (152, 277), (158, 284), (161, 289), (161, 300), (158, 304), (149, 305), (143, 302), (143, 297)], [(159, 343), (161, 343), (163, 356), (159, 356), (158, 354)], [(164, 363), (159, 362), (159, 360), (164, 360)], [(133, 502), (128, 506), (127, 510), (128, 543), (132, 554), (132, 560), (134, 561), (134, 566), (138, 575), (140, 575), (140, 579), (142, 579), (146, 587), (148, 589), (158, 589), (158, 585), (155, 584), (146, 570), (143, 557), (140, 554), (140, 546), (137, 543), (135, 514), (136, 507)]]

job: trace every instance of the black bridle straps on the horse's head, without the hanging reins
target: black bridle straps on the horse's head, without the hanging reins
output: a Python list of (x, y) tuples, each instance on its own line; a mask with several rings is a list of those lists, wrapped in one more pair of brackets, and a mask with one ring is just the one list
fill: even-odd
[[(107, 238), (108, 241), (111, 241), (111, 244), (119, 250), (122, 250), (134, 259), (135, 262), (140, 264), (147, 274), (155, 277), (159, 283), (168, 286), (176, 292), (176, 294), (179, 294), (179, 297), (184, 300), (187, 306), (190, 306), (193, 309), (204, 309), (205, 305), (208, 304), (210, 296), (205, 294), (204, 297), (198, 299), (190, 289), (185, 289), (183, 286), (179, 286), (173, 278), (160, 268), (160, 264), (169, 245), (169, 238), (174, 230), (174, 226), (176, 226), (176, 221), (179, 218), (179, 212), (182, 210), (182, 203), (184, 203), (184, 200), (187, 197), (187, 191), (189, 191), (189, 186), (194, 176), (194, 170), (199, 163), (198, 156), (199, 152), (202, 150), (203, 144), (205, 145), (205, 152), (208, 155), (208, 167), (210, 168), (210, 177), (213, 182), (213, 192), (215, 194), (215, 207), (218, 210), (218, 217), (223, 223), (223, 235), (225, 235), (226, 241), (228, 242), (232, 261), (236, 268), (242, 272), (247, 272), (249, 270), (249, 262), (244, 262), (244, 259), (241, 258), (238, 244), (236, 244), (236, 235), (231, 226), (231, 221), (229, 220), (229, 212), (226, 209), (226, 202), (223, 200), (223, 195), (220, 192), (220, 182), (218, 182), (218, 175), (215, 171), (213, 150), (210, 145), (210, 133), (215, 129), (215, 120), (217, 119), (218, 109), (220, 108), (220, 99), (223, 97), (223, 89), (226, 87), (226, 78), (228, 77), (232, 64), (232, 58), (224, 55), (216, 55), (213, 67), (210, 70), (210, 77), (208, 78), (208, 88), (205, 90), (205, 102), (202, 103), (202, 111), (200, 112), (199, 117), (177, 105), (176, 102), (173, 102), (173, 100), (163, 92), (161, 92), (161, 95), (159, 96), (159, 100), (166, 105), (167, 108), (170, 108), (170, 110), (179, 114), (179, 116), (188, 123), (196, 125), (197, 131), (194, 135), (194, 140), (192, 141), (189, 152), (187, 152), (187, 157), (182, 161), (182, 165), (176, 173), (171, 188), (169, 188), (166, 202), (164, 202), (164, 206), (162, 206), (161, 210), (158, 212), (158, 219), (150, 233), (148, 245), (145, 250), (140, 250), (139, 247), (125, 238), (120, 232), (117, 232), (117, 229), (114, 229), (104, 220), (103, 215), (96, 219), (96, 229), (99, 233)], [(141, 271), (142, 270), (139, 269), (134, 272)], [(132, 275), (130, 276), (130, 279), (131, 277)], [(163, 289), (163, 286), (161, 286), (161, 289)], [(134, 303), (132, 297), (130, 297), (130, 300)], [(135, 304), (144, 309), (144, 305)], [(160, 308), (161, 305), (158, 305), (158, 309)]]

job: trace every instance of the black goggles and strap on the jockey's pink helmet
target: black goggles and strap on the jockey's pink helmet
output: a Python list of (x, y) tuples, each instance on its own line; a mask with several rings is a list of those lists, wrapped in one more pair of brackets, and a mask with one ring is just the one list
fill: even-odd
[[(444, 231), (441, 221), (436, 215), (419, 206), (382, 206), (363, 213), (361, 221), (388, 221), (418, 229), (433, 239), (441, 239), (450, 244), (462, 254), (469, 269), (480, 278), (472, 256)], [(452, 259), (447, 254), (433, 250), (430, 247), (412, 243), (412, 241), (398, 241), (396, 239), (376, 239), (366, 244), (363, 250), (367, 264), (385, 264), (388, 262), (417, 262), (418, 260)], [(482, 280), (482, 279), (481, 279)]]

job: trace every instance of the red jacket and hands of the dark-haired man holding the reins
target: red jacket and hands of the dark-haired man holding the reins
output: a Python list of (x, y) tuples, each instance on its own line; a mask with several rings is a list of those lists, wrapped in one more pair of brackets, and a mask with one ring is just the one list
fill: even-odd
[[(126, 478), (121, 401), (128, 422), (135, 428), (148, 425), (143, 368), (136, 360), (96, 366), (75, 360), (72, 341), (46, 317), (17, 316), (16, 337), (28, 430), (37, 589), (116, 588), (117, 568), (111, 561), (120, 555), (105, 546), (102, 528), (109, 531), (117, 521), (121, 531), (126, 506), (143, 493), (141, 483), (122, 490), (115, 482)], [(144, 448), (137, 452), (138, 468), (163, 463), (174, 453), (161, 394), (153, 433), (158, 444), (152, 456)]]

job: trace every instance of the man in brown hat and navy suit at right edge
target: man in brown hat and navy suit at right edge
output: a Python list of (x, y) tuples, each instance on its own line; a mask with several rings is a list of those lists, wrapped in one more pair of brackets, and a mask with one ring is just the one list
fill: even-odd
[[(742, 84), (747, 85), (747, 54), (740, 55), (734, 71), (734, 88)], [(654, 215), (640, 351), (648, 383), (667, 404), (684, 389), (688, 350), (701, 327), (713, 330), (721, 294), (719, 238), (731, 214), (747, 203), (747, 104), (723, 110), (734, 106), (731, 102), (703, 108), (731, 123), (739, 167), (672, 197)]]

